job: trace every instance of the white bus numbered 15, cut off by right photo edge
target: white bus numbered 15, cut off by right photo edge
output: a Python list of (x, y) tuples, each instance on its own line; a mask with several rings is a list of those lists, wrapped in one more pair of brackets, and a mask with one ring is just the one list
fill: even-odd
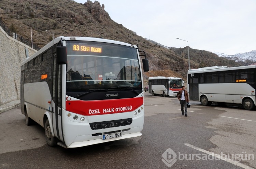
[(227, 67), (213, 66), (188, 70), (189, 100), (202, 105), (239, 104), (253, 110), (255, 100), (256, 65)]

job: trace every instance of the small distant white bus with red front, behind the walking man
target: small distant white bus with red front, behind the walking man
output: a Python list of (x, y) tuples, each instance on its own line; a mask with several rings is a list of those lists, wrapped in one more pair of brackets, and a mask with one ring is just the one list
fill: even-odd
[(161, 94), (166, 96), (177, 96), (179, 90), (184, 86), (184, 80), (179, 77), (156, 76), (148, 78), (148, 93), (152, 96)]

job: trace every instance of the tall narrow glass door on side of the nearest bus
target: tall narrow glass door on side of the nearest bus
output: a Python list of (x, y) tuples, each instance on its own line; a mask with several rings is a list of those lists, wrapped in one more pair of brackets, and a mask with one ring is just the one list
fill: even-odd
[(53, 101), (52, 101), (52, 123), (54, 129), (54, 135), (59, 140), (63, 140), (63, 133), (62, 133), (62, 111), (61, 111), (61, 72), (62, 72), (62, 65), (57, 64), (56, 55), (53, 59)]

